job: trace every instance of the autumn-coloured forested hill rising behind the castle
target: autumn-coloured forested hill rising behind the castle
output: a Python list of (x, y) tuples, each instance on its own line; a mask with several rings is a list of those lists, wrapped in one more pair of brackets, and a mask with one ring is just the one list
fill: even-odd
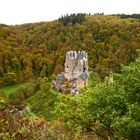
[(140, 19), (85, 16), (78, 23), (62, 20), (16, 26), (0, 25), (0, 85), (63, 71), (65, 53), (85, 50), (90, 71), (103, 78), (119, 72), (140, 48)]

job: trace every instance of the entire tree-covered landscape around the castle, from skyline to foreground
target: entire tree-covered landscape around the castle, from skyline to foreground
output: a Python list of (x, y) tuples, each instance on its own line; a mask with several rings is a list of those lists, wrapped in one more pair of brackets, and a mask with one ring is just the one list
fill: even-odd
[[(140, 139), (140, 19), (122, 16), (0, 25), (0, 139)], [(89, 57), (77, 96), (52, 90), (70, 50)]]

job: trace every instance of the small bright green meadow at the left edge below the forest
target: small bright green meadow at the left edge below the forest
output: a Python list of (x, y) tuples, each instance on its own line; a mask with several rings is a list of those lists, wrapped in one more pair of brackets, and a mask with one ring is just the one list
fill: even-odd
[(10, 86), (5, 86), (0, 88), (0, 91), (2, 91), (7, 97), (17, 91), (20, 88), (26, 87), (29, 83), (19, 83), (19, 84), (14, 84), (14, 85), (10, 85)]

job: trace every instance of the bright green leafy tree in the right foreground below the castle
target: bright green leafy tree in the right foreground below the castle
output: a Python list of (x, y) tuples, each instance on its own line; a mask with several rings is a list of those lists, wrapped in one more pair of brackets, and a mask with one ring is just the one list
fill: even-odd
[(91, 84), (79, 96), (61, 97), (58, 114), (67, 127), (79, 132), (94, 131), (115, 139), (140, 139), (140, 57), (113, 83)]

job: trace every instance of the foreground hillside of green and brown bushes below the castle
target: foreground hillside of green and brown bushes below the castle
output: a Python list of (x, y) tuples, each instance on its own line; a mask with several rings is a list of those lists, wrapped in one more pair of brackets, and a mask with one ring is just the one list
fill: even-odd
[(139, 140), (140, 56), (113, 77), (91, 75), (77, 96), (52, 91), (48, 78), (8, 99), (0, 93), (0, 138)]

